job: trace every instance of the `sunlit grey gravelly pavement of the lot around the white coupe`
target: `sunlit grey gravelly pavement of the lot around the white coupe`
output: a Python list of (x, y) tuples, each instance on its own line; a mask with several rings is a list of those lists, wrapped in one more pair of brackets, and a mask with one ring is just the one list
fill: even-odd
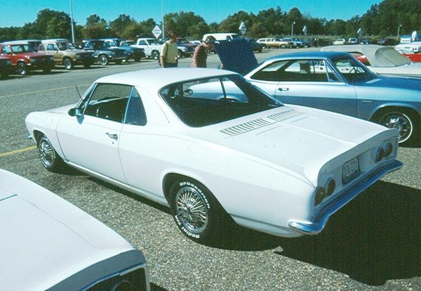
[[(208, 67), (218, 63), (209, 56)], [(1, 80), (0, 167), (57, 193), (142, 250), (152, 290), (421, 290), (420, 147), (400, 148), (404, 167), (341, 209), (319, 235), (285, 239), (239, 227), (213, 246), (185, 238), (166, 207), (72, 169), (53, 174), (41, 166), (25, 139), (27, 113), (76, 103), (75, 84), (82, 93), (102, 75), (157, 66), (142, 60)]]

